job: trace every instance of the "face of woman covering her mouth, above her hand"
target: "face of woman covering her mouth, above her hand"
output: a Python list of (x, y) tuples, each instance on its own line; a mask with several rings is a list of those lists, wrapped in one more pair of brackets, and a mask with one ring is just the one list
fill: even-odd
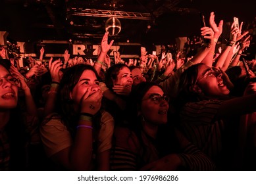
[(75, 85), (72, 92), (70, 92), (70, 98), (74, 101), (76, 106), (80, 106), (81, 99), (88, 88), (91, 88), (90, 95), (100, 89), (99, 80), (97, 80), (97, 77), (92, 70), (84, 70), (78, 83)]

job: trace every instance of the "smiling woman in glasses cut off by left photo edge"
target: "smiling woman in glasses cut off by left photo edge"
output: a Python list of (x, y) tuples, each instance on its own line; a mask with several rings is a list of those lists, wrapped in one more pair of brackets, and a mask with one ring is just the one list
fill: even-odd
[[(0, 170), (28, 170), (28, 143), (39, 141), (36, 105), (23, 76), (8, 60), (0, 60)], [(26, 114), (18, 106), (18, 87), (24, 91)]]

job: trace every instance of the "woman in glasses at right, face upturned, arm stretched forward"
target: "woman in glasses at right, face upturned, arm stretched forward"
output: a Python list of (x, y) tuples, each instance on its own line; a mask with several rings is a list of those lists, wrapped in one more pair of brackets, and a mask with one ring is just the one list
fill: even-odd
[(230, 98), (231, 86), (223, 71), (205, 64), (184, 71), (178, 86), (176, 104), (182, 132), (217, 163), (219, 170), (243, 169), (236, 168), (243, 162), (240, 153), (235, 155), (238, 141), (242, 141), (238, 140), (239, 120), (242, 114), (256, 111), (256, 95), (247, 95), (255, 83), (238, 98)]

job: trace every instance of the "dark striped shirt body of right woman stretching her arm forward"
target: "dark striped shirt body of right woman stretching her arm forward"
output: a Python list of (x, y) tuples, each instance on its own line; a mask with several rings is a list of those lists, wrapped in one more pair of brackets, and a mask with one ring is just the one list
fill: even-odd
[(196, 147), (216, 160), (223, 150), (226, 124), (216, 114), (223, 101), (187, 103), (180, 112), (184, 135)]

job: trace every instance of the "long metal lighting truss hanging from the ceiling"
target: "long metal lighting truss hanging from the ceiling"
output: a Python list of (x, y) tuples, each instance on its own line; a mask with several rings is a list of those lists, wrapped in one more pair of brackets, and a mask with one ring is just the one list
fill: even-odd
[(74, 16), (97, 16), (151, 20), (151, 14), (147, 12), (126, 12), (126, 11), (107, 11), (97, 9), (70, 8), (70, 14)]

